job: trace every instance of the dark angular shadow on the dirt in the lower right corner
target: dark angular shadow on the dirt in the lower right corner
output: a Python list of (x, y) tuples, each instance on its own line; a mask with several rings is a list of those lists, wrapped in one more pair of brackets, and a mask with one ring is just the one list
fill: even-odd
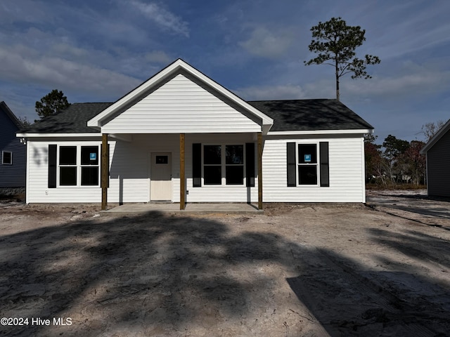
[(329, 249), (317, 249), (309, 262), (286, 280), (330, 336), (448, 336), (448, 283), (413, 268), (368, 270)]

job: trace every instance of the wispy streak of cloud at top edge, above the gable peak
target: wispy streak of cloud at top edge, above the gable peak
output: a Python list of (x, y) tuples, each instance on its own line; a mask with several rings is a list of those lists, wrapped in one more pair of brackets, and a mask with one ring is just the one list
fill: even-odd
[(131, 4), (138, 8), (143, 15), (156, 22), (162, 28), (189, 37), (188, 22), (179, 18), (179, 16), (174, 15), (174, 13), (167, 11), (165, 8), (162, 8), (155, 3), (143, 4), (140, 1), (134, 0), (131, 1)]

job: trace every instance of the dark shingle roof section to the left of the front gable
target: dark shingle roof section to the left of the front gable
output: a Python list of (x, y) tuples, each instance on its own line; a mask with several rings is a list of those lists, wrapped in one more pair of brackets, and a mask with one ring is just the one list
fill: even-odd
[(88, 127), (87, 121), (113, 103), (73, 103), (67, 109), (45, 117), (24, 133), (98, 133), (98, 128)]

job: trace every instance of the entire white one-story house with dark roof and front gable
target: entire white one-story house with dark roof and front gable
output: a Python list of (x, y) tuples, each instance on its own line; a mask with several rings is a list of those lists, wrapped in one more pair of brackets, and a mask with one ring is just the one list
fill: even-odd
[(179, 59), (27, 138), (27, 202), (365, 202), (364, 134), (337, 100), (245, 102)]

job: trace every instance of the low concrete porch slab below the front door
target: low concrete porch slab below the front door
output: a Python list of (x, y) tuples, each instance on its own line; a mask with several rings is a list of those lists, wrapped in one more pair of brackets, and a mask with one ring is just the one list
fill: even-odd
[(180, 204), (123, 204), (113, 209), (101, 211), (102, 216), (108, 215), (128, 215), (136, 213), (148, 212), (162, 213), (191, 213), (191, 214), (209, 214), (209, 213), (226, 213), (226, 214), (262, 214), (263, 211), (257, 206), (244, 203), (207, 203), (207, 204), (186, 204), (186, 209), (180, 210)]

